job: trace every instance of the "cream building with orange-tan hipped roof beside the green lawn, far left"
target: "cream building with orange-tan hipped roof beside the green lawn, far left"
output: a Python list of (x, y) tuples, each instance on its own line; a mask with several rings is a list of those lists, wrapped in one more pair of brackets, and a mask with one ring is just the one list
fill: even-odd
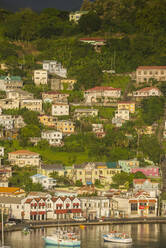
[(18, 150), (15, 152), (8, 153), (8, 160), (11, 165), (18, 165), (19, 167), (24, 166), (36, 166), (40, 165), (40, 155), (35, 152), (27, 150)]

